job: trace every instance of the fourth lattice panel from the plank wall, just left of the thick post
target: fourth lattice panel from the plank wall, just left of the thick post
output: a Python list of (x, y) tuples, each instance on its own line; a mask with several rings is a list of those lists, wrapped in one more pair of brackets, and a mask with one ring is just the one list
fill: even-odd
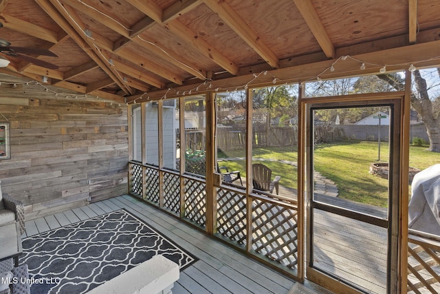
[(206, 184), (185, 179), (185, 217), (206, 227)]

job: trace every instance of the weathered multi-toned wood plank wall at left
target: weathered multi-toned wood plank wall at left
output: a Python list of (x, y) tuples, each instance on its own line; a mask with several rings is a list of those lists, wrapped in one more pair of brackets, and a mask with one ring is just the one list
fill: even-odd
[(26, 219), (128, 191), (127, 109), (95, 98), (58, 98), (41, 86), (0, 86), (10, 160), (1, 189), (25, 204)]

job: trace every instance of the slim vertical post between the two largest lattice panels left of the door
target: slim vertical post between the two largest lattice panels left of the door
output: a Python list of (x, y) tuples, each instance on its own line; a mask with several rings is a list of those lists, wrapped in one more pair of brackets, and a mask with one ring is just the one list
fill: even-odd
[(246, 251), (252, 250), (252, 101), (254, 92), (246, 90)]

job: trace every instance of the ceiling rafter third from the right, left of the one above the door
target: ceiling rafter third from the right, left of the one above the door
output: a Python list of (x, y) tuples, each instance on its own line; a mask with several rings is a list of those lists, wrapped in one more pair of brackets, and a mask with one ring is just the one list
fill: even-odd
[(219, 17), (229, 25), (243, 41), (259, 54), (270, 66), (279, 67), (278, 57), (272, 50), (260, 39), (260, 37), (249, 27), (240, 15), (233, 10), (225, 1), (203, 0), (212, 11), (219, 14)]

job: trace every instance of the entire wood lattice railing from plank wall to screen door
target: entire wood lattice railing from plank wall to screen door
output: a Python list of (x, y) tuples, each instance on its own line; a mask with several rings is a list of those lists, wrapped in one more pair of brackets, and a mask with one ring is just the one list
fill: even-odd
[[(206, 228), (206, 182), (203, 178), (185, 175), (184, 185), (180, 187), (182, 176), (175, 171), (159, 171), (135, 162), (130, 162), (129, 171), (133, 195)], [(159, 199), (161, 173), (164, 177), (162, 203)], [(181, 191), (184, 191), (183, 200)], [(292, 270), (296, 271), (298, 266), (298, 209), (296, 200), (277, 197), (254, 193), (247, 197), (243, 187), (217, 187), (216, 235), (294, 275)], [(250, 221), (252, 223), (248, 224)]]

